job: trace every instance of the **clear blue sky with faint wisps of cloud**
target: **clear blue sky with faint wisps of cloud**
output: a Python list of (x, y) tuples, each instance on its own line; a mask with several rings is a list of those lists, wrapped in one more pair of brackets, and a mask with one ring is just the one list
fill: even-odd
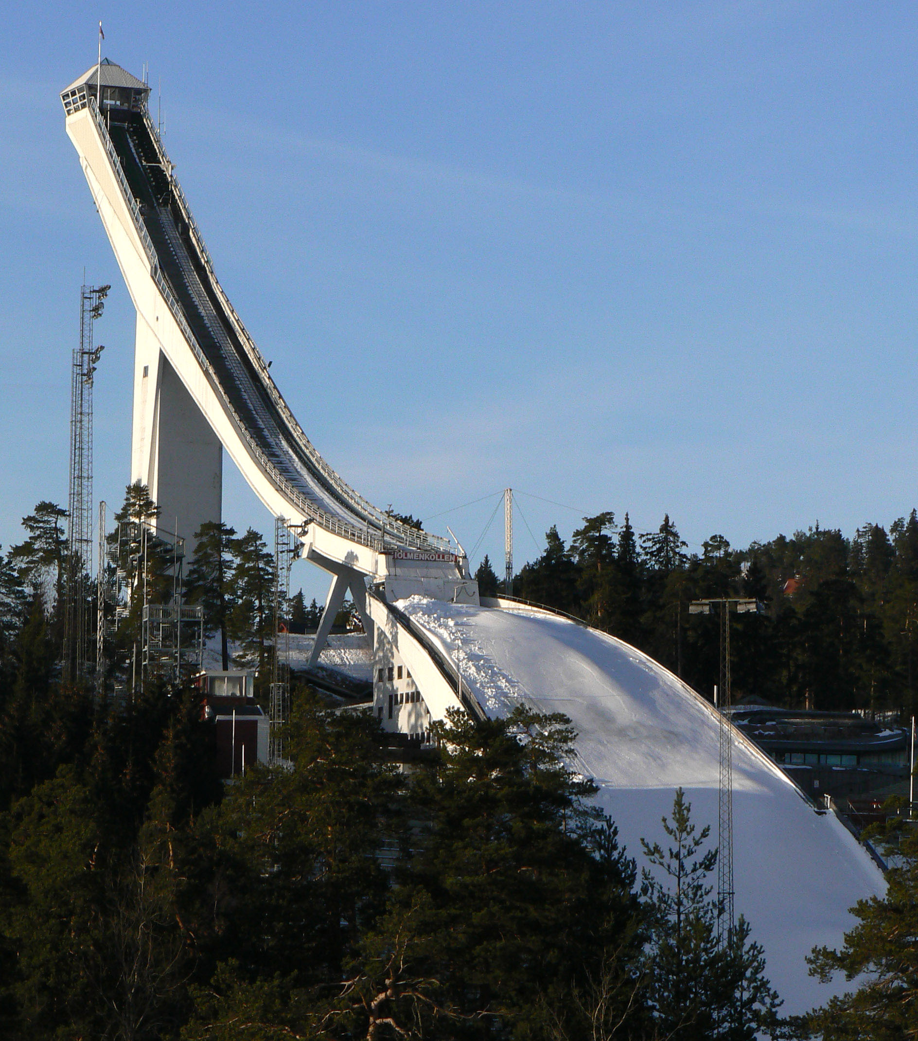
[[(512, 485), (639, 531), (668, 511), (693, 545), (918, 505), (915, 4), (2, 7), (4, 548), (67, 500), (84, 268), (113, 286), (97, 498), (129, 476), (133, 314), (57, 97), (100, 17), (154, 112), (161, 81), (282, 391), (379, 505)], [(226, 518), (267, 532), (231, 465)], [(494, 502), (430, 528), (470, 550)], [(519, 505), (535, 542), (578, 523)], [(521, 517), (516, 552), (537, 552)]]

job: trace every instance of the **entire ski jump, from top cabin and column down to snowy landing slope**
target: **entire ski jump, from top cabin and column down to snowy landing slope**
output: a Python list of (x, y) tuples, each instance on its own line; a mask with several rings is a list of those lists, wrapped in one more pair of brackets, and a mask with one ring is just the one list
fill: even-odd
[[(374, 712), (429, 738), (451, 708), (505, 715), (517, 704), (571, 717), (571, 765), (632, 855), (662, 839), (682, 786), (695, 819), (715, 823), (718, 718), (645, 655), (550, 612), (479, 603), (458, 543), (372, 506), (320, 456), (287, 407), (216, 280), (147, 108), (149, 87), (94, 66), (61, 94), (67, 132), (136, 308), (131, 480), (190, 545), (220, 520), (223, 451), (304, 556), (331, 575), (314, 661), (350, 589), (374, 644)], [(101, 80), (101, 82), (100, 82)], [(838, 945), (847, 909), (884, 890), (882, 873), (832, 814), (736, 734), (736, 906), (765, 945), (768, 972), (802, 1012), (831, 988), (808, 976), (814, 944)]]

